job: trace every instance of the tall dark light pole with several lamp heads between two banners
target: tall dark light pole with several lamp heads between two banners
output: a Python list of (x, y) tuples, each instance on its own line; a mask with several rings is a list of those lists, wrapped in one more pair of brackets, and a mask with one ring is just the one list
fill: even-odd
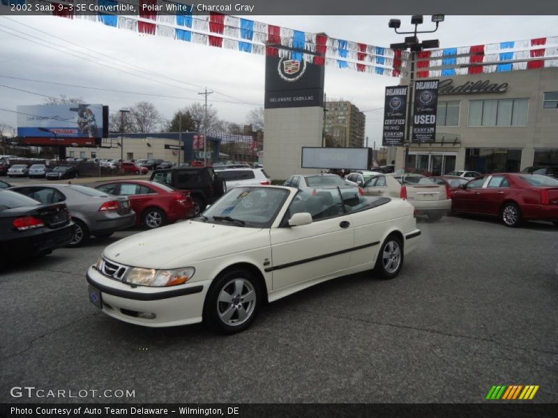
[(388, 26), (392, 28), (395, 33), (400, 35), (409, 35), (412, 34), (413, 36), (406, 36), (405, 42), (401, 43), (394, 43), (391, 44), (389, 47), (391, 49), (401, 49), (405, 51), (407, 49), (411, 52), (411, 70), (409, 72), (409, 98), (407, 100), (407, 118), (405, 119), (405, 163), (403, 169), (407, 170), (407, 164), (409, 162), (409, 146), (411, 144), (411, 115), (413, 111), (413, 102), (414, 102), (414, 64), (416, 60), (416, 53), (421, 52), (423, 49), (426, 48), (437, 48), (439, 47), (439, 40), (437, 39), (430, 39), (425, 40), (423, 42), (418, 42), (418, 38), (416, 36), (417, 33), (434, 33), (438, 30), (438, 25), (440, 22), (444, 22), (444, 15), (432, 15), (432, 22), (436, 24), (436, 28), (433, 31), (418, 31), (418, 25), (423, 23), (423, 15), (413, 15), (411, 17), (411, 24), (414, 24), (414, 31), (410, 32), (398, 32), (398, 29), (401, 26), (401, 21), (399, 19), (390, 19)]

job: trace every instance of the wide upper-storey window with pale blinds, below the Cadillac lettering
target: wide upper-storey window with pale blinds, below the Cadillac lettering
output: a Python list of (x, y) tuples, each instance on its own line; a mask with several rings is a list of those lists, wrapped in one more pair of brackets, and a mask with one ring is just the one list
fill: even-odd
[(529, 99), (470, 100), (469, 126), (527, 126)]

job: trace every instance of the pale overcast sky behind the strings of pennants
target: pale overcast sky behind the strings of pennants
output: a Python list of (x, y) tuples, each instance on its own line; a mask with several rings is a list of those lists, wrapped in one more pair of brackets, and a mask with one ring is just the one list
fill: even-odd
[[(402, 42), (404, 37), (389, 29), (387, 23), (392, 17), (401, 19), (400, 30), (412, 29), (409, 16), (251, 16), (250, 19), (389, 47), (393, 42)], [(434, 28), (429, 16), (425, 16), (424, 21), (420, 29)], [(436, 33), (419, 36), (419, 39), (437, 38), (441, 48), (461, 47), (557, 36), (557, 28), (558, 16), (446, 16)], [(33, 42), (23, 38), (31, 38)], [(45, 98), (33, 94), (40, 93), (81, 97), (89, 103), (108, 105), (112, 111), (147, 100), (153, 102), (165, 118), (172, 118), (177, 109), (202, 102), (203, 96), (197, 93), (207, 87), (215, 92), (209, 95), (208, 103), (218, 111), (218, 117), (242, 125), (250, 109), (263, 107), (264, 102), (264, 56), (140, 35), (86, 20), (0, 16), (0, 62), (0, 108), (13, 111), (18, 104), (42, 104)], [(1, 76), (93, 86), (109, 91)], [(328, 100), (349, 100), (365, 112), (365, 136), (369, 138), (369, 146), (374, 142), (377, 146), (381, 144), (384, 87), (398, 83), (399, 79), (392, 77), (326, 67)], [(0, 110), (0, 123), (17, 126), (16, 114)]]

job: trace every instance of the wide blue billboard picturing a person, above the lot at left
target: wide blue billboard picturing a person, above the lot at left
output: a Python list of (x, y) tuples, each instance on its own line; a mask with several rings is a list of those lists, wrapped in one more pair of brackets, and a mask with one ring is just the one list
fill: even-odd
[[(101, 138), (102, 104), (40, 104), (17, 106), (17, 135), (20, 137)], [(50, 132), (44, 132), (42, 127)]]

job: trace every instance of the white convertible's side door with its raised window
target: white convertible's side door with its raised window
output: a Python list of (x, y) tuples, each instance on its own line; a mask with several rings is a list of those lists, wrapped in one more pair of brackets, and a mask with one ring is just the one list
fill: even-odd
[[(288, 226), (297, 212), (309, 212), (312, 223)], [(346, 270), (354, 244), (350, 219), (337, 187), (299, 192), (279, 228), (270, 230), (273, 291)]]

